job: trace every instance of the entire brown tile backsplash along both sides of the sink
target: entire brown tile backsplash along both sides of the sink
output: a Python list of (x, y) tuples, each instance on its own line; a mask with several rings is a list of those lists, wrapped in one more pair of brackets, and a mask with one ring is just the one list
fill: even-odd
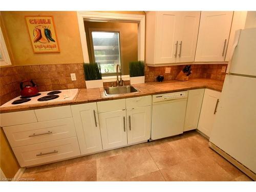
[[(185, 65), (147, 67), (145, 66), (145, 82), (155, 81), (155, 77), (163, 75), (164, 80), (175, 79)], [(225, 73), (222, 67), (227, 65), (191, 65), (193, 73), (189, 78), (211, 78), (224, 80)], [(170, 68), (170, 73), (165, 73), (165, 68)], [(71, 81), (70, 74), (76, 74), (76, 81)], [(83, 63), (13, 66), (0, 68), (0, 105), (20, 95), (19, 83), (26, 79), (33, 79), (39, 91), (52, 91), (60, 89), (86, 88), (84, 81)], [(113, 82), (116, 86), (116, 82)], [(124, 81), (130, 84), (130, 81)], [(111, 87), (112, 82), (104, 82), (104, 87)]]

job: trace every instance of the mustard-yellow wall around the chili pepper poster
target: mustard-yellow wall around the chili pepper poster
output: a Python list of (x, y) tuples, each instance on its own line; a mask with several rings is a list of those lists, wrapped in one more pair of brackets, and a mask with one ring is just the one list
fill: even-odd
[[(26, 27), (26, 15), (52, 15), (60, 53), (33, 53)], [(75, 11), (2, 11), (1, 27), (9, 41), (9, 54), (15, 66), (83, 62), (78, 21)], [(11, 53), (10, 53), (11, 52)]]

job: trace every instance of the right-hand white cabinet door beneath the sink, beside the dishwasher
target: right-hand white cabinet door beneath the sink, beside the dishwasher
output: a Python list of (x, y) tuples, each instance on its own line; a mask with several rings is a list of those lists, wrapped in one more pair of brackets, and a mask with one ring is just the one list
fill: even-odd
[(128, 143), (136, 143), (150, 139), (151, 106), (127, 109), (127, 139)]

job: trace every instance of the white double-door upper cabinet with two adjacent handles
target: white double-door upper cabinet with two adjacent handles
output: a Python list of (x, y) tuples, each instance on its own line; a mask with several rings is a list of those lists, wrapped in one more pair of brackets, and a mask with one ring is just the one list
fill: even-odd
[(194, 61), (200, 11), (159, 11), (146, 15), (146, 63)]

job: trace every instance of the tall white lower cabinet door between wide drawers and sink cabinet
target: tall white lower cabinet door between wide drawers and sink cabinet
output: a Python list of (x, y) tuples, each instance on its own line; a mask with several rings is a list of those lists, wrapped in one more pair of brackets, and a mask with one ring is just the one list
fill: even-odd
[(71, 105), (81, 154), (102, 150), (96, 103)]

